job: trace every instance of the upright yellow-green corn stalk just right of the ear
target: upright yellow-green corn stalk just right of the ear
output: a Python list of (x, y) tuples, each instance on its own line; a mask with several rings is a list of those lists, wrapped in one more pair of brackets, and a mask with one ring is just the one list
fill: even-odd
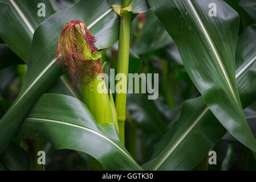
[[(131, 0), (123, 0), (123, 8), (127, 7)], [(128, 78), (129, 67), (129, 44), (131, 34), (131, 12), (124, 11), (120, 18), (119, 48), (117, 59), (117, 73), (124, 73)], [(121, 81), (121, 80), (119, 80)], [(127, 82), (125, 83), (127, 90)], [(119, 134), (124, 144), (124, 122), (125, 122), (126, 93), (116, 93), (116, 111), (119, 123)]]

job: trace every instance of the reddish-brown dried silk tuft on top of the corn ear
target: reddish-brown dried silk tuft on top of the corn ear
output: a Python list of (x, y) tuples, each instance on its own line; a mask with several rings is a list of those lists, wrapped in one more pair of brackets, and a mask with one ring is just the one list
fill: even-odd
[(86, 60), (84, 58), (85, 46), (91, 49), (92, 53), (97, 52), (94, 46), (95, 42), (96, 38), (90, 34), (86, 24), (81, 20), (66, 23), (60, 34), (55, 59), (63, 66), (64, 71), (70, 73), (75, 89), (78, 87), (79, 77), (87, 76), (88, 81), (81, 84), (88, 84), (93, 78), (96, 78), (98, 73), (103, 73), (100, 59)]

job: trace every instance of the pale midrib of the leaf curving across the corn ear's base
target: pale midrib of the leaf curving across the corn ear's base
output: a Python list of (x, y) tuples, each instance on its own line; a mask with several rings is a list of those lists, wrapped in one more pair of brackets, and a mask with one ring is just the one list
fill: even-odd
[(95, 134), (95, 135), (98, 135), (99, 137), (104, 138), (104, 139), (107, 140), (109, 143), (113, 144), (113, 146), (115, 146), (116, 148), (118, 148), (118, 150), (120, 150), (121, 152), (123, 152), (123, 154), (124, 154), (125, 156), (127, 156), (138, 168), (140, 168), (140, 166), (135, 162), (135, 160), (133, 160), (133, 159), (131, 158), (131, 156), (129, 156), (129, 155), (127, 154), (127, 152), (125, 152), (125, 151), (124, 151), (121, 147), (119, 147), (115, 142), (113, 142), (113, 141), (112, 141), (111, 139), (109, 139), (108, 137), (105, 137), (103, 134), (99, 133), (98, 131), (89, 129), (88, 127), (83, 127), (83, 126), (74, 125), (74, 124), (71, 124), (71, 123), (63, 122), (63, 121), (52, 120), (52, 119), (43, 119), (43, 118), (26, 118), (26, 119), (29, 119), (29, 120), (32, 120), (32, 121), (35, 120), (35, 121), (45, 121), (45, 122), (59, 123), (59, 124), (62, 124), (62, 125), (67, 125), (67, 126), (76, 127), (76, 128), (82, 129), (82, 130), (89, 131), (90, 133), (93, 133), (93, 134)]

